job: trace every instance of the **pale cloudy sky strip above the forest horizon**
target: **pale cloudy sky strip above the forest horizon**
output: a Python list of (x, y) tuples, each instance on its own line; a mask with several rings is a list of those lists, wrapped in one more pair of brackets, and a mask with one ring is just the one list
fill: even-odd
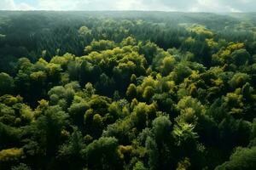
[(0, 0), (0, 10), (256, 12), (256, 0)]

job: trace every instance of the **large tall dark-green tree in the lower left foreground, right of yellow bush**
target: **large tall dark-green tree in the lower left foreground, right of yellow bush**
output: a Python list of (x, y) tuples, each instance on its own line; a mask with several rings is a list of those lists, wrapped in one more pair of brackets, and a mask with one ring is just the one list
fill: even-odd
[[(26, 129), (25, 134), (32, 134), (32, 137), (26, 140), (24, 152), (29, 159), (40, 163), (50, 161), (56, 156), (58, 145), (61, 142), (61, 131), (67, 125), (67, 113), (61, 110), (60, 106), (49, 106), (42, 116), (38, 117), (37, 122)], [(39, 147), (39, 149), (35, 149)], [(43, 154), (43, 156), (42, 156)], [(49, 164), (49, 167), (52, 166)]]

